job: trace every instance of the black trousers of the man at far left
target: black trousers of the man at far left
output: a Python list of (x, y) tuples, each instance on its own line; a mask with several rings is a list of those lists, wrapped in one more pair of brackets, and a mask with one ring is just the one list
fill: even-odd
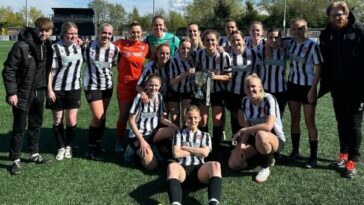
[(14, 161), (20, 159), (23, 137), (28, 125), (29, 153), (39, 152), (40, 128), (43, 123), (43, 111), (46, 89), (32, 90), (26, 110), (13, 107), (13, 132), (10, 140), (9, 158)]

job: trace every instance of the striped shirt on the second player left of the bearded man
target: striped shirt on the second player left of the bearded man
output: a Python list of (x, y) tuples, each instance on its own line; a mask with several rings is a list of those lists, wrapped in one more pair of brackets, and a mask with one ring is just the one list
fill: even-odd
[(259, 49), (262, 58), (259, 60), (259, 77), (262, 79), (264, 90), (269, 93), (287, 91), (286, 68), (288, 52), (286, 48), (272, 49), (272, 58), (265, 56), (264, 45)]

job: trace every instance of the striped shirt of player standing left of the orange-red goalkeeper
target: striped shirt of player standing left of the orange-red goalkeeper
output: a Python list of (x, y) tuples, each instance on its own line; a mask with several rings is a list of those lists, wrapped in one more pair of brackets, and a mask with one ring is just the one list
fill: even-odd
[(107, 49), (101, 48), (97, 41), (92, 41), (84, 53), (85, 74), (83, 87), (85, 90), (112, 89), (112, 70), (118, 62), (119, 48), (110, 43)]

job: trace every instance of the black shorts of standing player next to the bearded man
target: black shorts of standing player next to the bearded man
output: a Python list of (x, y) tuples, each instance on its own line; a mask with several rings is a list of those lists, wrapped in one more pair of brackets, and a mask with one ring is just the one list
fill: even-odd
[(307, 99), (308, 91), (310, 91), (311, 86), (297, 85), (291, 82), (287, 83), (287, 95), (289, 101), (301, 102), (302, 104), (316, 105), (317, 99), (313, 103), (309, 103)]

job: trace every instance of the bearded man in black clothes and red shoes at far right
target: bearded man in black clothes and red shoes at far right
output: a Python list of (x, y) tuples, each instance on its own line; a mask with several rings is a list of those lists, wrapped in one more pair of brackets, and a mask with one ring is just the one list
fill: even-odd
[(330, 23), (320, 35), (324, 63), (319, 94), (331, 91), (340, 141), (335, 166), (345, 168), (345, 176), (351, 178), (360, 161), (362, 139), (364, 25), (344, 1), (331, 3), (326, 14)]

